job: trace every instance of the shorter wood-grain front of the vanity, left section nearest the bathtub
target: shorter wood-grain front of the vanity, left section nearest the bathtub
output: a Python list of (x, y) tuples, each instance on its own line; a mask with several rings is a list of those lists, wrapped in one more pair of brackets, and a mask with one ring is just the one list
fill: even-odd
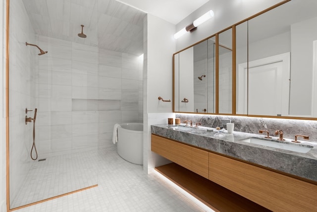
[(153, 134), (151, 150), (208, 179), (208, 151)]

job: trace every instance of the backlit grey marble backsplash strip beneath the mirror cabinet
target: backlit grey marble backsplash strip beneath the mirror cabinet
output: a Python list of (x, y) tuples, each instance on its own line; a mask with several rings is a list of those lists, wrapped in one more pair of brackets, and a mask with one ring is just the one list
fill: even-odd
[[(244, 116), (222, 116), (222, 115), (204, 115), (204, 114), (185, 114), (176, 113), (176, 118), (192, 120), (193, 125), (201, 123), (204, 127), (221, 127), (222, 119), (230, 119), (234, 123), (234, 131), (259, 134), (259, 130), (266, 130), (270, 136), (275, 136), (275, 130), (282, 130), (284, 138), (294, 139), (295, 135), (309, 136), (309, 141), (317, 142), (317, 121), (297, 120), (297, 119), (273, 119), (260, 117)], [(167, 120), (166, 120), (167, 123)], [(223, 126), (225, 128), (225, 126)], [(263, 134), (264, 135), (264, 134)], [(275, 136), (277, 137), (277, 136)], [(298, 140), (303, 140), (299, 137)]]

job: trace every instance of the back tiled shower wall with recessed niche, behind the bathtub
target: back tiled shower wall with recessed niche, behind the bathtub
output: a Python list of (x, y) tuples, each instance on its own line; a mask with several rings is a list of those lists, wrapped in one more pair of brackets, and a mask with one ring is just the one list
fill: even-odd
[(37, 143), (41, 157), (109, 146), (115, 123), (143, 122), (139, 57), (39, 36)]

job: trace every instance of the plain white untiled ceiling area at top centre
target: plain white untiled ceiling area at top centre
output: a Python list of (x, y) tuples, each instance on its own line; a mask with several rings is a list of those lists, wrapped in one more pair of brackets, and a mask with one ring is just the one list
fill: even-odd
[(177, 24), (209, 0), (117, 0)]

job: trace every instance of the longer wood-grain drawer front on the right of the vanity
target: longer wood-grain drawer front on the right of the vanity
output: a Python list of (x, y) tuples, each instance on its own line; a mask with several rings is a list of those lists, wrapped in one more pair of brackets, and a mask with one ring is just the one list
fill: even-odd
[(209, 179), (271, 211), (317, 211), (317, 185), (211, 152)]

